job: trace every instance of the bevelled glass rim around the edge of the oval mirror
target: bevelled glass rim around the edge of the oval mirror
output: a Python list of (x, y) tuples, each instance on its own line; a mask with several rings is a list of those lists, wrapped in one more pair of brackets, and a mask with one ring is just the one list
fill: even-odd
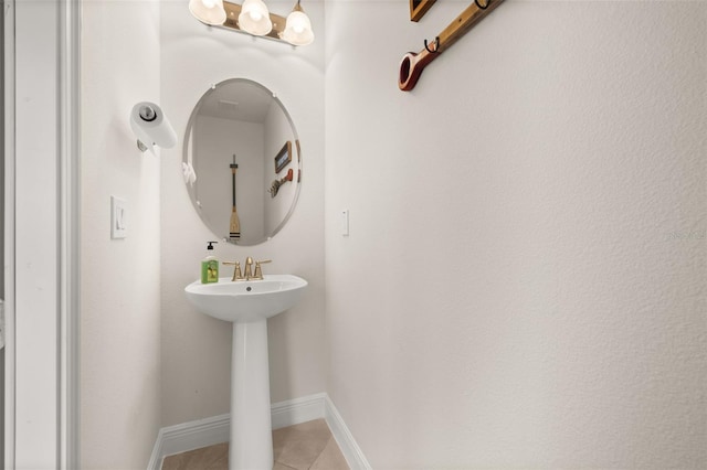
[[(207, 92), (201, 96), (201, 98), (199, 98), (199, 100), (197, 102), (197, 104), (194, 105), (194, 107), (193, 107), (193, 109), (191, 111), (191, 115), (189, 116), (189, 120), (187, 121), (187, 129), (184, 130), (184, 141), (183, 141), (183, 146), (182, 146), (182, 163), (189, 163), (189, 154), (191, 152), (190, 146), (192, 143), (192, 133), (193, 133), (193, 130), (194, 130), (194, 124), (197, 121), (197, 117), (199, 115), (199, 109), (201, 108), (203, 103), (209, 98), (209, 96), (215, 89), (218, 89), (219, 87), (225, 86), (228, 84), (235, 83), (235, 82), (246, 83), (246, 84), (250, 84), (251, 86), (255, 86), (256, 88), (260, 88), (261, 90), (265, 92), (267, 95), (270, 95), (272, 97), (273, 102), (279, 107), (279, 109), (283, 111), (283, 114), (287, 118), (287, 122), (289, 124), (289, 128), (292, 129), (292, 133), (293, 133), (293, 137), (294, 137), (294, 145), (292, 147), (293, 147), (293, 150), (296, 152), (296, 170), (297, 170), (297, 174), (294, 177), (294, 179), (292, 181), (293, 183), (296, 184), (296, 189), (295, 189), (295, 194), (293, 196), (293, 200), (292, 200), (292, 203), (289, 205), (289, 209), (288, 209), (287, 213), (285, 214), (285, 216), (283, 217), (282, 222), (279, 222), (279, 224), (275, 228), (273, 228), (272, 233), (265, 234), (263, 238), (258, 238), (258, 241), (255, 242), (255, 243), (242, 244), (242, 243), (239, 243), (236, 241), (231, 239), (228, 236), (228, 234), (226, 234), (226, 236), (218, 234), (217, 231), (211, 226), (211, 223), (209, 221), (207, 221), (204, 215), (203, 215), (203, 210), (200, 207), (200, 204), (198, 203), (198, 199), (197, 199), (194, 186), (189, 184), (189, 183), (187, 183), (187, 182), (184, 182), (184, 186), (187, 189), (187, 193), (189, 194), (189, 199), (191, 200), (191, 205), (193, 206), (193, 209), (197, 212), (197, 214), (199, 214), (199, 218), (201, 218), (201, 222), (203, 222), (203, 224), (207, 226), (207, 228), (209, 228), (211, 231), (211, 233), (213, 233), (217, 236), (218, 239), (228, 242), (228, 243), (230, 243), (232, 245), (235, 245), (235, 246), (256, 246), (256, 245), (261, 245), (261, 244), (263, 244), (265, 242), (268, 242), (275, 235), (277, 235), (279, 233), (279, 231), (283, 229), (283, 227), (289, 221), (289, 217), (292, 217), (292, 214), (295, 212), (295, 207), (297, 206), (297, 202), (299, 200), (299, 192), (302, 190), (302, 170), (303, 170), (303, 164), (302, 164), (302, 146), (299, 143), (299, 136), (297, 133), (297, 128), (295, 127), (295, 122), (293, 121), (292, 116), (287, 111), (287, 108), (285, 107), (283, 102), (281, 102), (279, 98), (277, 97), (277, 94), (273, 93), (270, 88), (267, 88), (266, 86), (262, 85), (261, 83), (255, 82), (255, 81), (250, 79), (250, 78), (242, 78), (242, 77), (226, 78), (226, 79), (224, 79), (222, 82), (219, 82), (217, 84), (212, 84), (209, 87), (209, 89), (207, 89)], [(192, 159), (194, 157), (192, 157)], [(295, 156), (293, 156), (293, 161), (295, 161)], [(267, 164), (267, 162), (265, 162), (264, 164)], [(265, 194), (267, 192), (265, 192)]]

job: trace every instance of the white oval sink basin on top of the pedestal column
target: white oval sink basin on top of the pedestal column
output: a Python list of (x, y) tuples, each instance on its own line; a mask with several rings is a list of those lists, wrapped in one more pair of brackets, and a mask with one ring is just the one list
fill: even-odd
[(189, 301), (200, 312), (220, 320), (249, 322), (274, 317), (293, 307), (307, 281), (292, 275), (265, 275), (262, 280), (219, 282), (197, 280), (184, 288)]

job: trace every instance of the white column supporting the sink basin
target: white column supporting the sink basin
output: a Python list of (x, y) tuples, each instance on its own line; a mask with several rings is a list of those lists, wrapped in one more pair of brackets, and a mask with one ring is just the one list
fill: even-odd
[(233, 323), (229, 470), (272, 470), (267, 320)]

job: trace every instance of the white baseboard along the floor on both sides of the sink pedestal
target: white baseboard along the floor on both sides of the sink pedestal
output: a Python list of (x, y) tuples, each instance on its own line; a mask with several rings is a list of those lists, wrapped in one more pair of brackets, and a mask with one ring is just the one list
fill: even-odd
[[(326, 393), (274, 403), (271, 413), (273, 429), (324, 418), (351, 470), (371, 468)], [(228, 442), (230, 424), (231, 416), (225, 414), (161, 428), (147, 470), (160, 470), (167, 456)]]

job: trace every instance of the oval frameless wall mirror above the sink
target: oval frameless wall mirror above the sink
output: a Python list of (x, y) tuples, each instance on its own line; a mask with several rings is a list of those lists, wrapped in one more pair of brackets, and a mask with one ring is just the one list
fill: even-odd
[(221, 82), (191, 113), (182, 170), (194, 209), (217, 237), (243, 246), (263, 243), (287, 223), (299, 195), (295, 125), (257, 82)]

